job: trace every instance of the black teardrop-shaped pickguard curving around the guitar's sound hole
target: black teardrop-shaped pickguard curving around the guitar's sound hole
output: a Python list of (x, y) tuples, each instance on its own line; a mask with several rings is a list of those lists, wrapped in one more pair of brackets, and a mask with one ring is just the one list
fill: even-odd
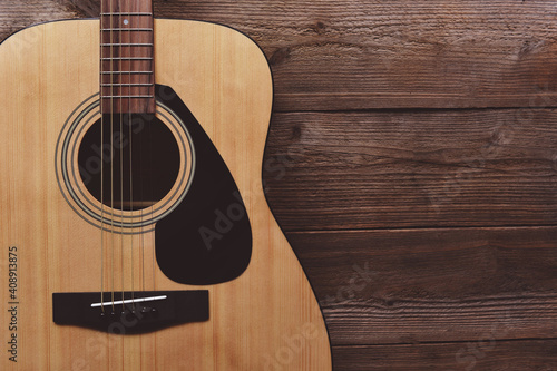
[(186, 197), (156, 224), (158, 266), (168, 279), (184, 284), (234, 280), (252, 256), (252, 228), (240, 191), (218, 150), (176, 92), (157, 85), (156, 96), (184, 121), (196, 155)]

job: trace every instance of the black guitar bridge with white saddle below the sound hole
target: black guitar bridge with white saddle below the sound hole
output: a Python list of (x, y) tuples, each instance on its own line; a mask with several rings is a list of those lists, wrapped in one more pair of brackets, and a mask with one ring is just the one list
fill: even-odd
[(138, 334), (209, 319), (208, 291), (53, 293), (56, 324)]

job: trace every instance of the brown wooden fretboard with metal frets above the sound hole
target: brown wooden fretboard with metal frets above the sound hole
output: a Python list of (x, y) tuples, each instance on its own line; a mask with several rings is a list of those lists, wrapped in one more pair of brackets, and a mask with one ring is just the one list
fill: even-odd
[(154, 114), (152, 0), (101, 0), (102, 114)]

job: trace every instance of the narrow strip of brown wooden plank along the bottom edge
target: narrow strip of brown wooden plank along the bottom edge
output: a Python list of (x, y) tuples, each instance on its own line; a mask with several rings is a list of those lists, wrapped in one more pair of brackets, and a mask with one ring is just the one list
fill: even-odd
[(466, 343), (335, 346), (339, 371), (554, 371), (557, 340), (494, 341), (489, 335)]

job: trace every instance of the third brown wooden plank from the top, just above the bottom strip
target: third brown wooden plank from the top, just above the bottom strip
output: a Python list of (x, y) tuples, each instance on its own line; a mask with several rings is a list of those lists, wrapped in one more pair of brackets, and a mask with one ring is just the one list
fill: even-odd
[(555, 338), (557, 227), (290, 233), (334, 345)]

